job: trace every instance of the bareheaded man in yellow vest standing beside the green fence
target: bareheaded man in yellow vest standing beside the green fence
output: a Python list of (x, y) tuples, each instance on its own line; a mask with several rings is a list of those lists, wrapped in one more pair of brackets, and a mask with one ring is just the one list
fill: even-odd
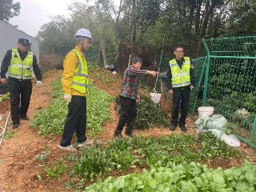
[(194, 68), (189, 57), (184, 57), (182, 46), (174, 48), (175, 58), (171, 59), (166, 73), (166, 86), (168, 92), (173, 94), (172, 120), (170, 130), (175, 130), (178, 124), (178, 110), (181, 102), (182, 114), (179, 126), (186, 132), (186, 117), (189, 110), (190, 90), (194, 90), (195, 78)]

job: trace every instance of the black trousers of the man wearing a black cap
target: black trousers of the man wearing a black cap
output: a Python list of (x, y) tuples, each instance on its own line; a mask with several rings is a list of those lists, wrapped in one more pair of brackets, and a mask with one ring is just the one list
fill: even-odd
[(10, 90), (10, 115), (13, 123), (19, 123), (20, 116), (26, 116), (32, 94), (31, 80), (8, 78)]

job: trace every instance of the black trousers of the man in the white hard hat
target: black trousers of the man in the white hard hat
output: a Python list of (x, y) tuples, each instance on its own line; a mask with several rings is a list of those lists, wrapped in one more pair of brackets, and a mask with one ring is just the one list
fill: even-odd
[(86, 141), (86, 97), (72, 95), (68, 106), (68, 114), (64, 132), (62, 134), (61, 146), (70, 146), (74, 132), (78, 143)]

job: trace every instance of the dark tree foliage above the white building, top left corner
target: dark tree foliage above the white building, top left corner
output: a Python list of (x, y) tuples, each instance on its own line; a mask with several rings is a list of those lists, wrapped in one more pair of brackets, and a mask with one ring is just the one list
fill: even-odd
[(20, 14), (21, 6), (19, 2), (12, 0), (0, 0), (0, 21), (8, 22), (10, 18)]

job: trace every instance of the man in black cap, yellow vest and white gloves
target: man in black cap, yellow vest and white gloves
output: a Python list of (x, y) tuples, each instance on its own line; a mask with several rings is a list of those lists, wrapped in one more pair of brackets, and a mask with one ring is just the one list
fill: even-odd
[(18, 48), (7, 50), (1, 66), (1, 83), (7, 82), (6, 73), (9, 71), (10, 114), (14, 129), (18, 128), (20, 118), (29, 120), (26, 112), (30, 106), (33, 71), (38, 80), (37, 86), (42, 85), (42, 74), (38, 67), (37, 58), (29, 50), (29, 40), (19, 38)]

